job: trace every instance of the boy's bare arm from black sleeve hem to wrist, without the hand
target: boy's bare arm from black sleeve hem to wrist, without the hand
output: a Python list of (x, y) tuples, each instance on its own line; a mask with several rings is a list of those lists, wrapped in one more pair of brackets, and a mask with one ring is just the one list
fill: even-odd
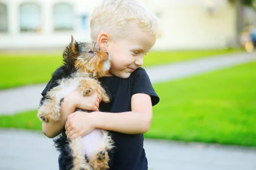
[(152, 112), (150, 96), (134, 94), (131, 97), (131, 111), (123, 113), (96, 112), (95, 127), (126, 134), (146, 133), (151, 124)]

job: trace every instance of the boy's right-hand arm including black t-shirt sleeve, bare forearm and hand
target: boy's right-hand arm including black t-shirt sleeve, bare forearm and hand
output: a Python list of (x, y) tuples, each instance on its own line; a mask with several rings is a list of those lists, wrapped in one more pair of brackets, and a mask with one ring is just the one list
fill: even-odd
[(68, 117), (65, 129), (68, 137), (76, 138), (90, 133), (93, 128), (102, 128), (126, 134), (139, 134), (148, 131), (152, 119), (152, 106), (159, 97), (151, 85), (143, 68), (134, 72), (131, 88), (131, 111), (122, 113), (75, 112)]

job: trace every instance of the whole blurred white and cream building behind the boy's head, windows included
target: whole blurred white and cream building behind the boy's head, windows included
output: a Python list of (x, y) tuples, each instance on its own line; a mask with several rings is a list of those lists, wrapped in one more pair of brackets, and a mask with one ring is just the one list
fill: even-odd
[[(0, 0), (0, 49), (64, 47), (70, 34), (90, 40), (88, 17), (97, 1)], [(154, 49), (221, 48), (237, 36), (236, 7), (227, 0), (143, 2), (163, 21), (164, 36)], [(256, 22), (255, 12), (247, 13)]]

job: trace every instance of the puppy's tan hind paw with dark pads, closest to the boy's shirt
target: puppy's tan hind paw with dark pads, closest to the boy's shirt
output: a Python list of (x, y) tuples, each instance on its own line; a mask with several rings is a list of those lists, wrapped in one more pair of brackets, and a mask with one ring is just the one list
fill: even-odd
[(100, 151), (96, 154), (94, 158), (90, 160), (90, 166), (93, 167), (93, 170), (108, 170), (108, 161), (109, 156), (108, 152), (105, 150)]

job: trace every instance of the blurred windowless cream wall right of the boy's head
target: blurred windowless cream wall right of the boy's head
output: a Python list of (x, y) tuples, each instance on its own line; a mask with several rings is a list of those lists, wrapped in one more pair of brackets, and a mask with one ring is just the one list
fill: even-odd
[(223, 42), (236, 37), (236, 11), (226, 1), (212, 1), (213, 14), (207, 13), (207, 0), (148, 3), (160, 14), (165, 31), (154, 49), (222, 48)]

